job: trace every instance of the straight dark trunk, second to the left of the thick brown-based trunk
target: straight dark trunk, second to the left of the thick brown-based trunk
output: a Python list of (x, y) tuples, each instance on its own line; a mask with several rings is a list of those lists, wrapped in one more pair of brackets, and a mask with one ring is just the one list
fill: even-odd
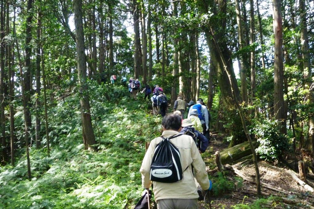
[[(39, 0), (41, 3), (41, 0)], [(41, 120), (39, 117), (39, 112), (40, 112), (40, 107), (41, 107), (41, 102), (39, 100), (40, 97), (40, 88), (41, 88), (41, 8), (38, 8), (37, 12), (37, 49), (36, 49), (36, 102), (35, 102), (35, 107), (36, 107), (36, 149), (41, 148), (41, 134), (40, 134), (40, 128), (41, 128)]]

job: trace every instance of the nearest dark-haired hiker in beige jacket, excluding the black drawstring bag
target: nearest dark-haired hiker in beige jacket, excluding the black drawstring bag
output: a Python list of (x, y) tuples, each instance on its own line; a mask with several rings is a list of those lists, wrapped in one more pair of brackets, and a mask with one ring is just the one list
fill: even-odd
[[(144, 156), (140, 169), (142, 174), (142, 185), (145, 189), (150, 188), (152, 183), (157, 208), (180, 208), (180, 209), (197, 209), (198, 208), (198, 191), (194, 182), (194, 175), (197, 182), (203, 190), (209, 188), (208, 175), (205, 169), (205, 163), (199, 154), (196, 144), (192, 137), (179, 135), (181, 131), (181, 118), (175, 114), (166, 115), (162, 120), (163, 133), (162, 137), (169, 139), (180, 153), (180, 162), (184, 178), (175, 183), (161, 183), (150, 180), (151, 164), (154, 156), (154, 150), (163, 138), (154, 138)], [(192, 167), (194, 175), (192, 173)], [(161, 169), (160, 169), (161, 170)]]

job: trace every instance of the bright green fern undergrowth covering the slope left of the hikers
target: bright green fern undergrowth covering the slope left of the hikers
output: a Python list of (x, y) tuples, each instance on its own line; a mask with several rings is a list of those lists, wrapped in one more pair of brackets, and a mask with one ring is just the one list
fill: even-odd
[(58, 100), (48, 112), (51, 157), (45, 147), (30, 148), (31, 180), (24, 154), (15, 167), (0, 168), (0, 208), (120, 209), (138, 201), (144, 142), (160, 134), (161, 118), (148, 115), (147, 106), (130, 100), (123, 87), (90, 86), (98, 151), (84, 150), (79, 98), (72, 94)]

